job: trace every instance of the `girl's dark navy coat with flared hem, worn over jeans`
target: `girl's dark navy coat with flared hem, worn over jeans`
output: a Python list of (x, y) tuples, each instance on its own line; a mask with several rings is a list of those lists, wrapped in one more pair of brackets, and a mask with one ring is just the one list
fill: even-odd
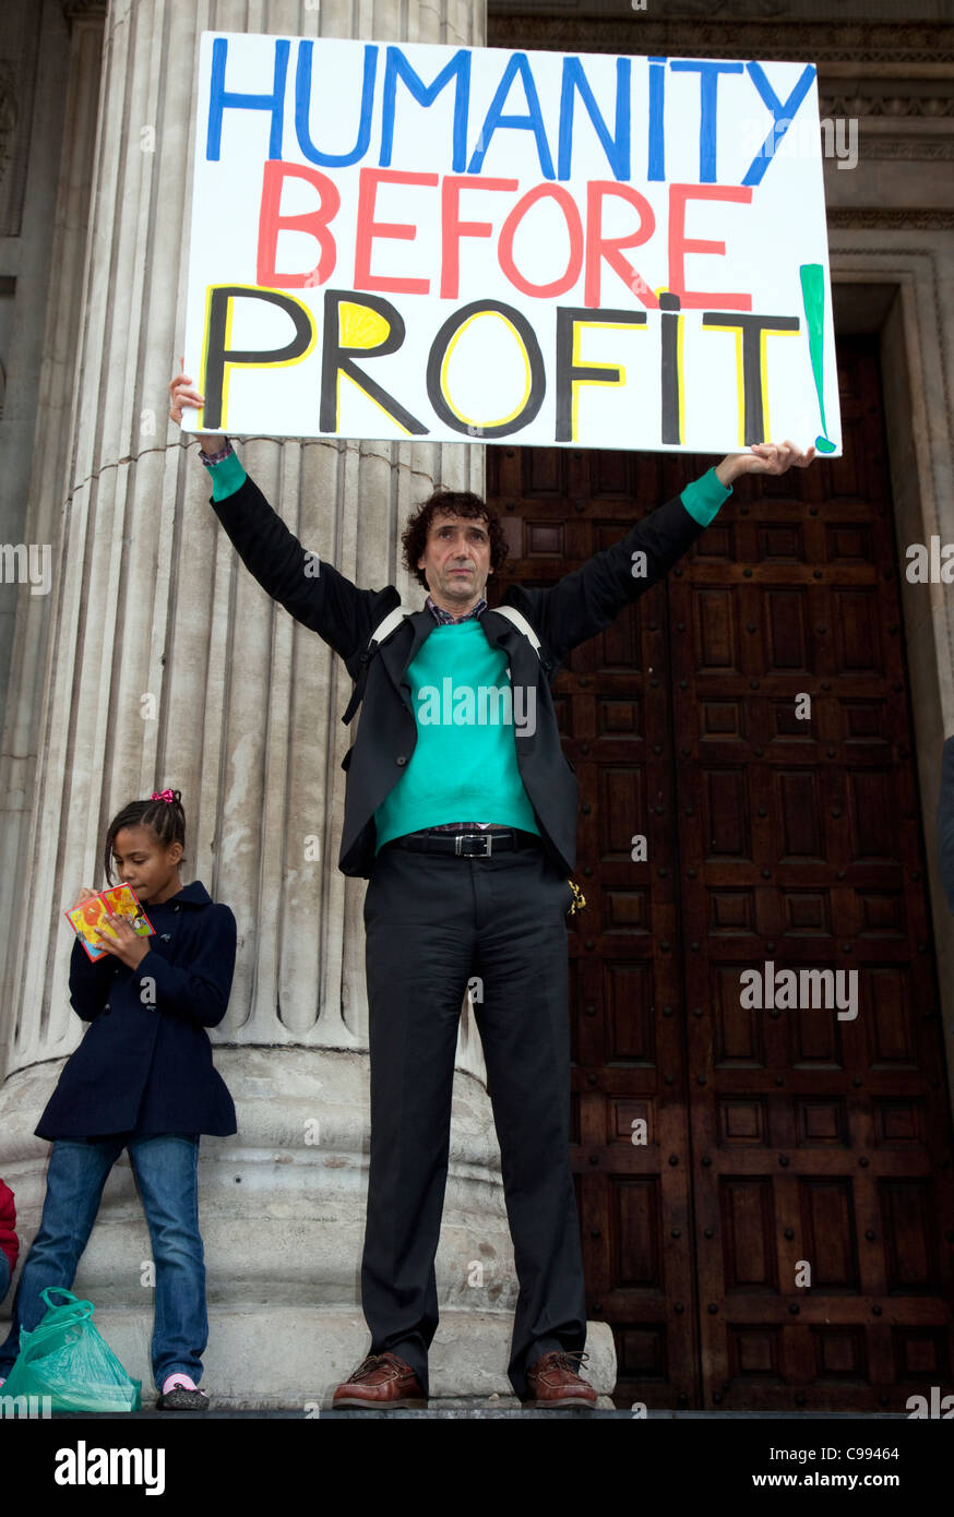
[(70, 1001), (91, 1025), (64, 1066), (38, 1138), (237, 1130), (205, 1032), (229, 1004), (235, 918), (197, 880), (146, 915), (155, 936), (137, 969), (112, 956), (93, 962), (79, 939), (73, 945)]

